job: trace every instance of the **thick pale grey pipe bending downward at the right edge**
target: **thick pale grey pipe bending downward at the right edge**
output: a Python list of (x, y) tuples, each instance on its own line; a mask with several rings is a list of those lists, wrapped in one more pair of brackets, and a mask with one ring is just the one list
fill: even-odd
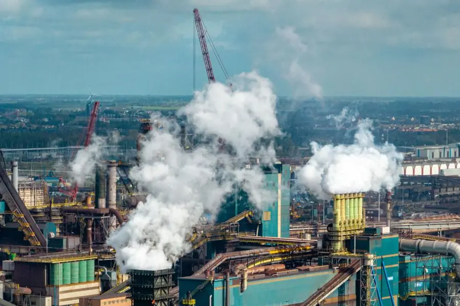
[(460, 244), (452, 241), (400, 239), (399, 250), (425, 254), (451, 255), (455, 258), (455, 274), (460, 278)]

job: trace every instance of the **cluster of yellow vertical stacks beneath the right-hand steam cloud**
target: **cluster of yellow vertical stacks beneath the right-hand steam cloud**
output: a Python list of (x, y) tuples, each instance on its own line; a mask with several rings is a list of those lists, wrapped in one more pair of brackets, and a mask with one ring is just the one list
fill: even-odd
[(345, 239), (363, 232), (365, 227), (362, 208), (364, 196), (363, 192), (334, 195), (334, 219), (332, 228), (328, 228), (328, 231), (335, 252), (344, 249)]

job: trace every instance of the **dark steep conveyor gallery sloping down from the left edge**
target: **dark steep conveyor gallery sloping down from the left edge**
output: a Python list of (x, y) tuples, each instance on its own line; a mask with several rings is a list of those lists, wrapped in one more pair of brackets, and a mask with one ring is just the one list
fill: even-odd
[(22, 202), (16, 188), (14, 188), (13, 183), (11, 183), (2, 166), (0, 166), (0, 196), (5, 200), (8, 208), (15, 217), (15, 221), (19, 223), (19, 230), (24, 233), (25, 239), (29, 240), (33, 246), (46, 246), (47, 240), (24, 205), (24, 202)]

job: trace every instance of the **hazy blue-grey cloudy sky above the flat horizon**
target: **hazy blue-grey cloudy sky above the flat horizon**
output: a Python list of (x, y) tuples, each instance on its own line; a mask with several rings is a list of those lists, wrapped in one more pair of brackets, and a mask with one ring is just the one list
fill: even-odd
[(195, 7), (278, 95), (460, 96), (458, 0), (0, 0), (0, 94), (189, 95)]

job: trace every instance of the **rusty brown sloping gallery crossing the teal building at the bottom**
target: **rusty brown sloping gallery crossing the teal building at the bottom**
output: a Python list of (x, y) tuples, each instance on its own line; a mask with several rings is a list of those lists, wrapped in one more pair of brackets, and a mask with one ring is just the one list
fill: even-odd
[(361, 269), (361, 260), (354, 260), (350, 265), (343, 267), (339, 272), (332, 277), (323, 287), (319, 288), (307, 300), (300, 303), (298, 306), (316, 306), (321, 301), (326, 299), (332, 292), (339, 288), (343, 283), (347, 282), (356, 272)]

